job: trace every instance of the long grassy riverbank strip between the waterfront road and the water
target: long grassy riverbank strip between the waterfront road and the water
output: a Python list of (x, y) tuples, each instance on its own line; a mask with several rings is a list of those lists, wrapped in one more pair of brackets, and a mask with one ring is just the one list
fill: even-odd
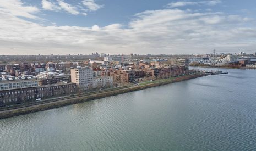
[(156, 86), (161, 86), (161, 85), (167, 85), (167, 84), (170, 84), (173, 82), (195, 79), (197, 77), (202, 77), (202, 76), (206, 76), (206, 75), (209, 75), (209, 74), (199, 73), (199, 74), (194, 74), (194, 75), (186, 75), (186, 76), (176, 77), (175, 79), (165, 79), (165, 80), (159, 80), (159, 81), (156, 80), (156, 81), (146, 83), (144, 85), (137, 85), (137, 86), (132, 86), (132, 87), (123, 88), (123, 89), (119, 89), (119, 90), (99, 92), (97, 94), (89, 93), (89, 94), (85, 94), (84, 96), (57, 100), (55, 102), (37, 104), (37, 105), (23, 107), (23, 108), (17, 108), (17, 109), (4, 110), (4, 111), (0, 111), (0, 119), (10, 118), (13, 116), (24, 115), (24, 114), (34, 113), (37, 111), (43, 111), (43, 110), (48, 110), (48, 109), (53, 109), (53, 108), (59, 108), (59, 107), (63, 107), (66, 105), (83, 103), (83, 102), (86, 102), (89, 100), (115, 96), (115, 95), (122, 94), (122, 93), (143, 90), (146, 88), (151, 88), (151, 87), (156, 87)]

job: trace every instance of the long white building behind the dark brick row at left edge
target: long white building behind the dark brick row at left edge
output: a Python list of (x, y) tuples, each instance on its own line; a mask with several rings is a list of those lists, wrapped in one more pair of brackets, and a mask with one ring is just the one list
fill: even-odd
[(35, 78), (23, 77), (15, 79), (2, 79), (0, 78), (0, 91), (1, 90), (10, 90), (15, 88), (28, 88), (38, 86), (38, 81)]

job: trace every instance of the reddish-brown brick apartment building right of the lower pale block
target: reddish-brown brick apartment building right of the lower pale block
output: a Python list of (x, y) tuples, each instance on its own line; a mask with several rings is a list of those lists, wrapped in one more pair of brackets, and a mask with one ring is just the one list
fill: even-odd
[(134, 70), (114, 70), (110, 72), (110, 76), (114, 80), (121, 82), (134, 82), (135, 81), (135, 71)]

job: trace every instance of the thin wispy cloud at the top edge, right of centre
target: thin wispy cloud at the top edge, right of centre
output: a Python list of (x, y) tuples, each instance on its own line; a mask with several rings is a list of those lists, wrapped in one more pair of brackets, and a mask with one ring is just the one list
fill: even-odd
[(191, 2), (191, 1), (178, 1), (178, 2), (171, 2), (167, 4), (168, 8), (175, 8), (175, 7), (184, 7), (187, 5), (209, 5), (213, 6), (216, 4), (221, 3), (220, 0), (212, 0), (212, 1), (199, 1), (199, 2)]

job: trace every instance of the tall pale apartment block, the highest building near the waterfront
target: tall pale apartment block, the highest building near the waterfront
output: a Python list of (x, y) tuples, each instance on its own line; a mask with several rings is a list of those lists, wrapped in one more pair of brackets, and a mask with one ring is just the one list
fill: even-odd
[(93, 88), (93, 71), (88, 67), (77, 66), (77, 68), (70, 69), (71, 82), (77, 83), (79, 88), (88, 90)]

